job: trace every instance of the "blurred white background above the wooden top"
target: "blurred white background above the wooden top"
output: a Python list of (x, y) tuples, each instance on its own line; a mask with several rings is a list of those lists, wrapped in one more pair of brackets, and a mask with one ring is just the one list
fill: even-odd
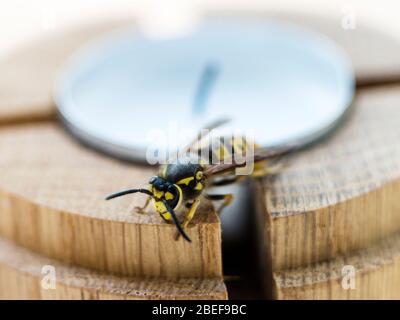
[(135, 17), (145, 30), (163, 33), (178, 30), (205, 11), (258, 9), (326, 15), (337, 19), (338, 26), (345, 15), (353, 13), (357, 21), (400, 34), (400, 3), (395, 0), (1, 0), (0, 55), (76, 24)]

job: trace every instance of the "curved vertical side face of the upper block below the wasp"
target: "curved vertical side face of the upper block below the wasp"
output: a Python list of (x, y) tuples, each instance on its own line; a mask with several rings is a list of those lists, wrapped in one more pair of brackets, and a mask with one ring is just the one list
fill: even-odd
[(175, 241), (170, 224), (146, 225), (71, 214), (0, 190), (0, 234), (45, 256), (125, 276), (222, 276), (219, 223), (188, 229)]

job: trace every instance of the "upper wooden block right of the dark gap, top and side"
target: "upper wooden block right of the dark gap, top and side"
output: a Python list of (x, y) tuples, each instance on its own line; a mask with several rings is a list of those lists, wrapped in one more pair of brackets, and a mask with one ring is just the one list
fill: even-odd
[(273, 271), (349, 255), (400, 230), (400, 87), (361, 91), (330, 139), (258, 185)]

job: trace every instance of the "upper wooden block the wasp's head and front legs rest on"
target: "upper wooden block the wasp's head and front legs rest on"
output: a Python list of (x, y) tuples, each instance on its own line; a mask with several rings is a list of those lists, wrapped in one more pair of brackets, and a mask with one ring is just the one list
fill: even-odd
[(0, 234), (48, 257), (128, 276), (220, 277), (221, 230), (210, 206), (188, 228), (134, 207), (142, 195), (104, 197), (142, 186), (154, 169), (121, 163), (79, 145), (57, 124), (0, 129)]

